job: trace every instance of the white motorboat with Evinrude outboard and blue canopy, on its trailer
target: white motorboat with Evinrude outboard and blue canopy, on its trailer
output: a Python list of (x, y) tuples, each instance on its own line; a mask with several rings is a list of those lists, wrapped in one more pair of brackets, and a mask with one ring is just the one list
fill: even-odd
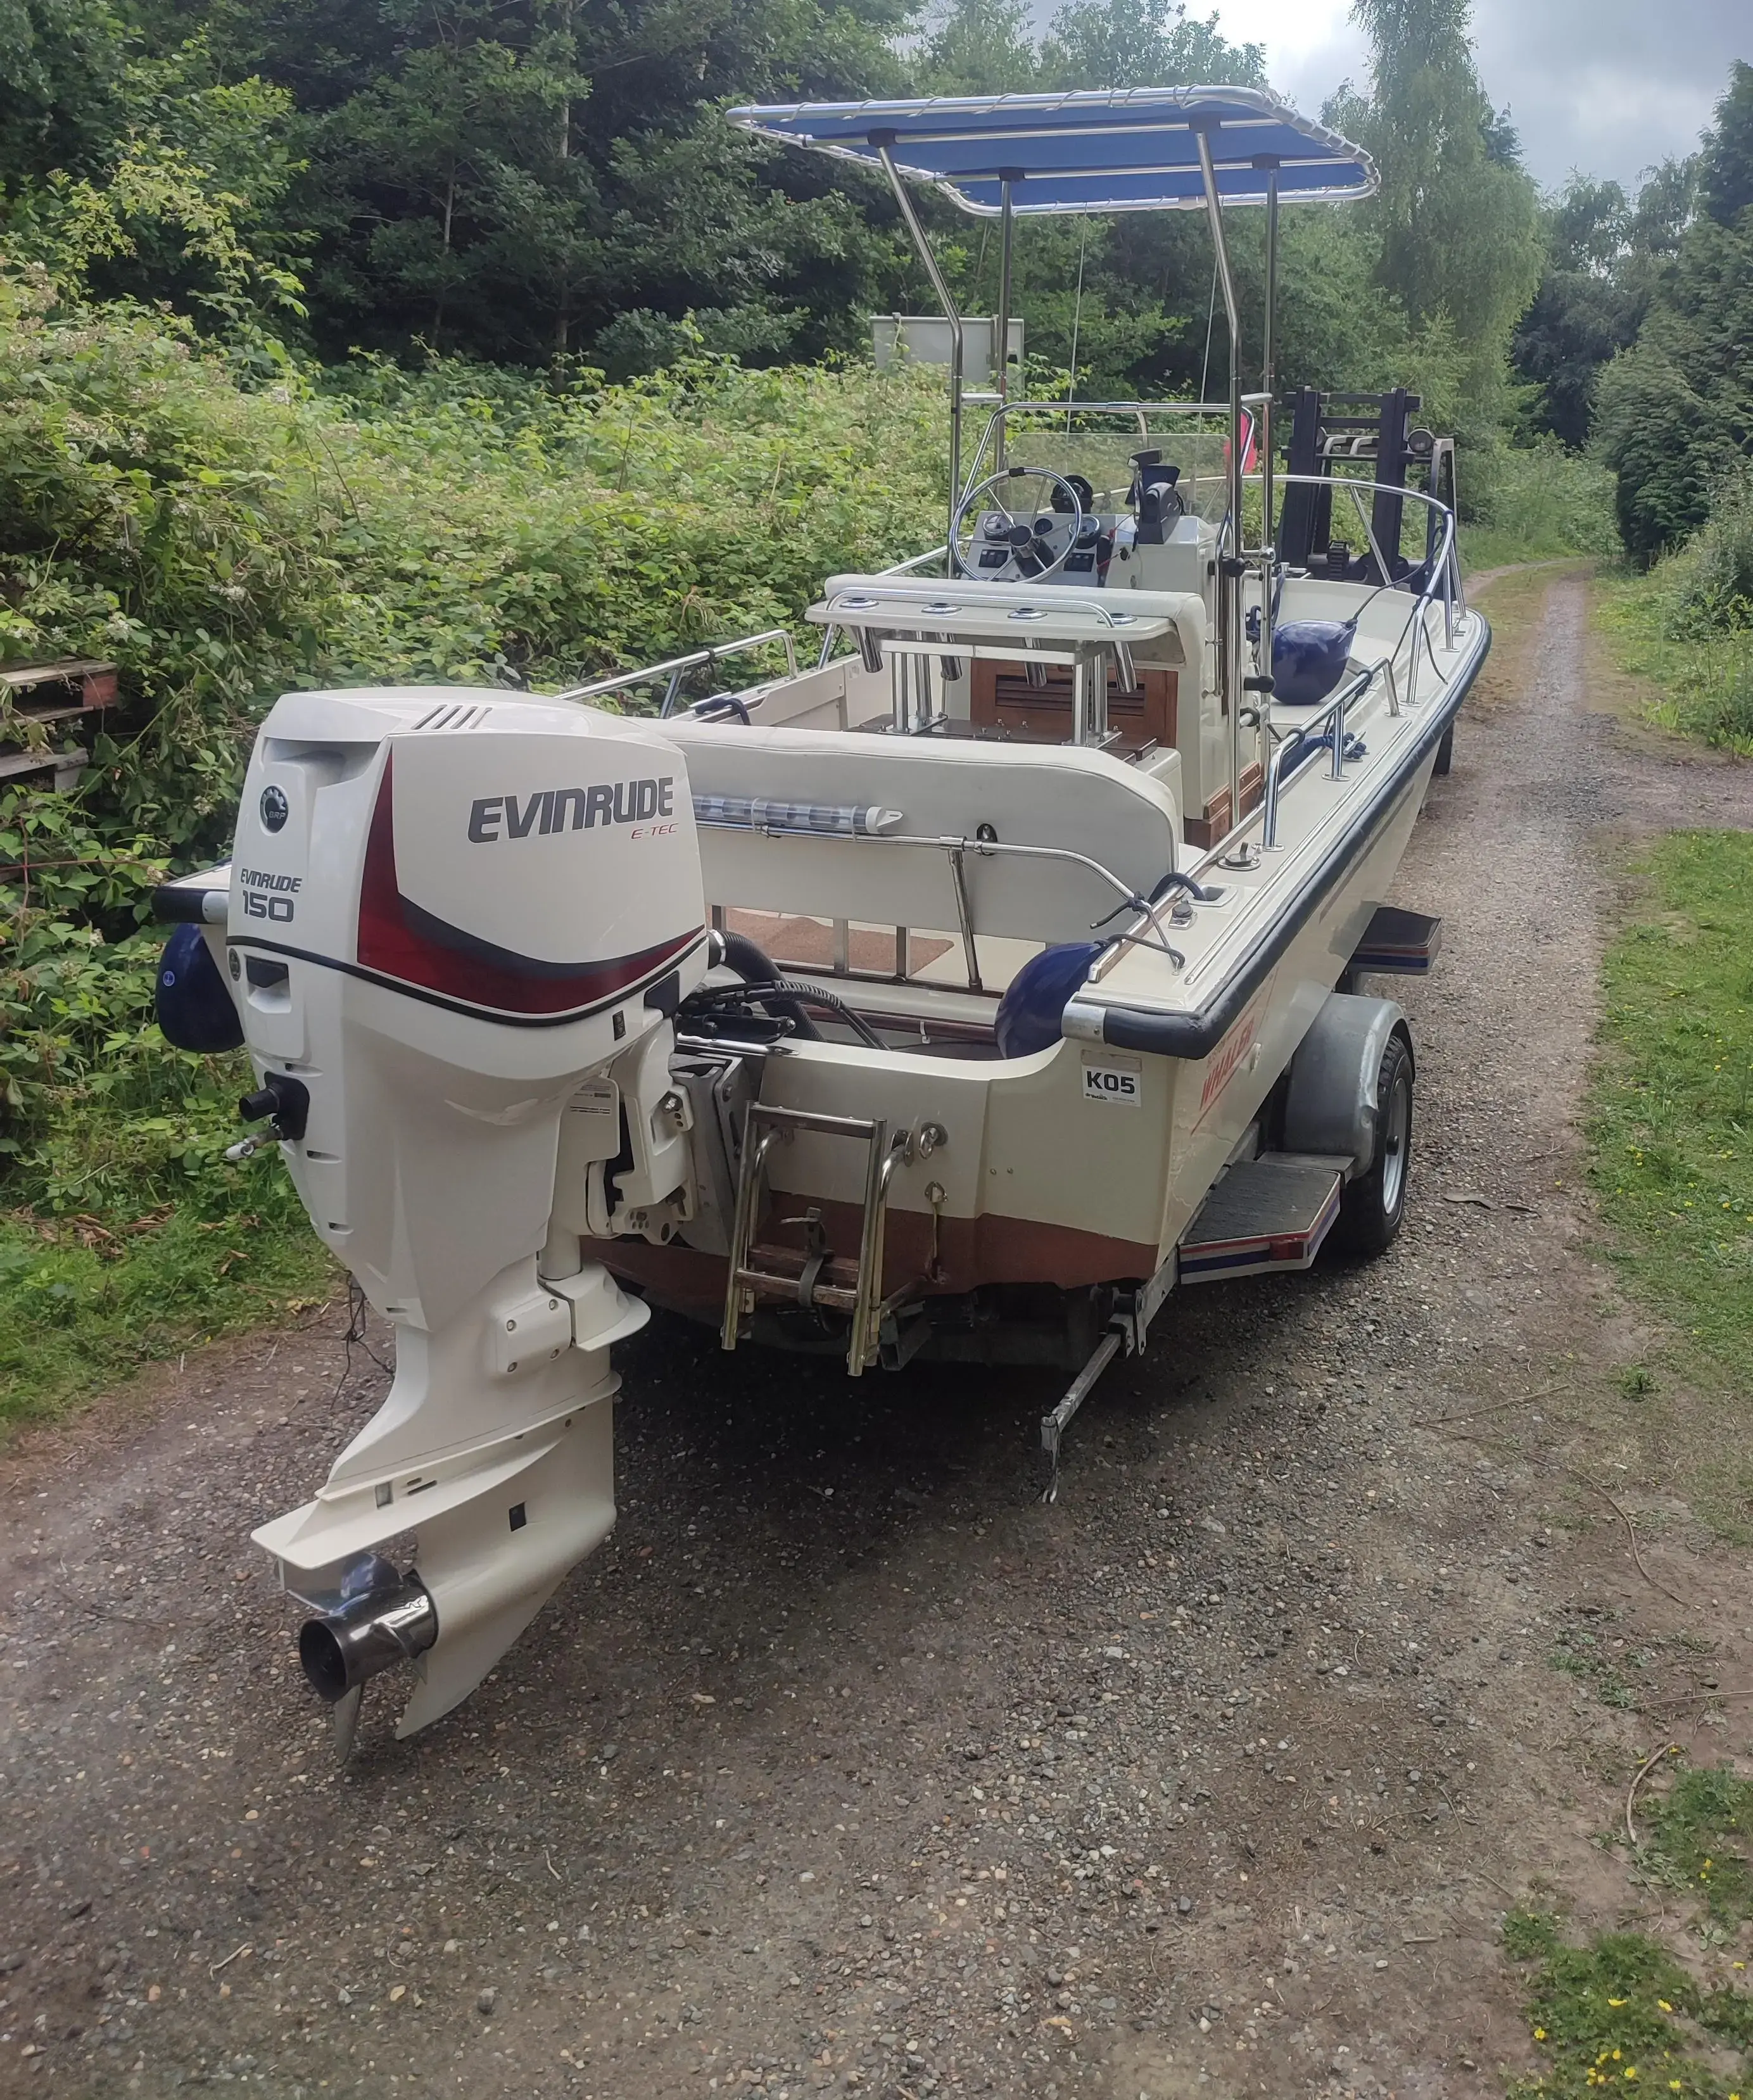
[[(957, 346), (909, 183), (997, 220), (999, 342), (1018, 216), (1203, 208), (1232, 344), (1228, 212), (1264, 208), (1270, 288), (1281, 204), (1375, 183), (1243, 88), (733, 118), (886, 172)], [(968, 397), (953, 363), (945, 542), (827, 578), (804, 668), (760, 634), (265, 720), (233, 861), (160, 892), (162, 1016), (248, 1042), (239, 1153), (279, 1144), (397, 1329), (378, 1415), (256, 1531), (342, 1741), (401, 1661), (401, 1732), (453, 1707), (607, 1535), (647, 1302), (854, 1378), (1062, 1365), (1056, 1468), (1176, 1285), (1394, 1237), (1413, 1048), (1356, 985), (1436, 953), (1388, 897), (1488, 630), (1417, 403), (1304, 393), (1287, 477), (1270, 298), (1262, 349), (1218, 403)], [(592, 708), (655, 687), (659, 718)]]

